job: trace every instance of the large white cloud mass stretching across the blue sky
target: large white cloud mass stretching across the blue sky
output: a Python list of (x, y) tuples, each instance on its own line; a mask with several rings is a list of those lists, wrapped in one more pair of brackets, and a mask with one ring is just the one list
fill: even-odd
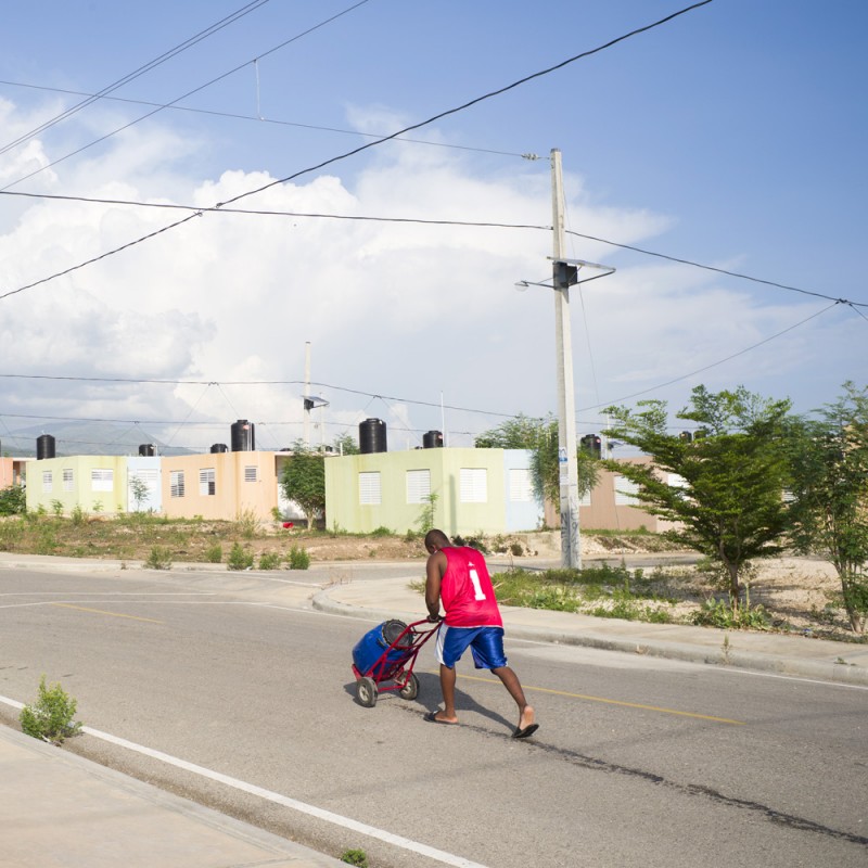
[[(0, 103), (2, 113), (10, 114), (8, 104)], [(371, 114), (369, 122), (380, 127), (388, 118)], [(173, 164), (177, 148), (177, 137), (159, 129), (118, 137), (99, 159), (59, 166), (52, 186), (60, 191), (68, 180), (97, 197), (159, 195), (161, 201), (212, 206), (273, 180), (266, 173), (238, 169), (215, 179), (184, 176)], [(28, 159), (47, 159), (38, 142), (30, 149)], [(501, 173), (494, 178), (468, 166), (446, 149), (395, 143), (358, 170), (352, 189), (335, 164), (332, 174), (275, 186), (237, 204), (347, 216), (550, 222), (545, 166), (516, 164), (514, 177)], [(576, 231), (636, 243), (673, 222), (642, 207), (598, 205), (585, 181), (567, 181), (567, 210)], [(3, 215), (11, 212), (1, 209), (12, 207), (20, 204), (0, 202), (0, 226), (7, 226), (0, 234), (2, 292), (186, 216), (40, 201), (18, 213), (14, 225), (4, 224)], [(220, 432), (228, 432), (234, 418), (261, 425), (259, 445), (288, 445), (301, 436), (301, 385), (207, 383), (301, 381), (309, 341), (312, 379), (331, 386), (314, 388), (331, 401), (324, 416), (327, 441), (371, 413), (388, 416), (396, 432), (439, 427), (442, 396), (445, 404), (464, 408), (544, 414), (557, 407), (551, 293), (532, 288), (521, 294), (513, 285), (522, 279), (544, 280), (550, 251), (547, 231), (205, 214), (0, 301), (2, 371), (192, 379), (205, 385), (100, 391), (68, 382), (49, 387), (16, 381), (0, 388), (8, 390), (8, 400), (14, 395), (16, 407), (46, 414), (62, 407), (71, 416), (215, 420), (207, 434), (200, 429), (187, 437), (181, 431), (176, 445), (202, 445), (207, 437), (222, 442), (228, 433)], [(616, 264), (626, 258), (608, 245), (572, 238), (569, 255)], [(616, 275), (589, 283), (582, 296), (573, 292), (579, 406), (713, 365), (822, 306), (819, 301), (789, 303), (780, 294), (769, 304), (750, 288), (709, 272), (672, 264), (638, 266), (635, 256), (628, 261)], [(795, 376), (806, 357), (822, 352), (812, 346), (809, 335), (816, 333), (822, 332), (796, 331), (712, 369), (698, 382), (718, 387), (744, 382), (762, 391), (767, 370)], [(691, 384), (668, 395), (685, 396)], [(431, 406), (398, 406), (393, 398)], [(499, 421), (447, 414), (447, 424), (461, 430), (480, 431)]]

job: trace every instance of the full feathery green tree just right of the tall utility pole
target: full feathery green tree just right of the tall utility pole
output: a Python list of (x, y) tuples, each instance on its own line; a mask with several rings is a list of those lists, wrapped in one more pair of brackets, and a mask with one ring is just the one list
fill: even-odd
[[(690, 405), (676, 414), (702, 426), (704, 436), (692, 441), (668, 433), (665, 401), (640, 401), (636, 412), (607, 411), (615, 420), (607, 434), (638, 447), (652, 462), (605, 465), (637, 484), (636, 496), (650, 513), (678, 523), (669, 538), (720, 565), (733, 610), (749, 562), (782, 550), (790, 406), (743, 386), (716, 394), (697, 386)], [(669, 484), (669, 473), (677, 485)]]

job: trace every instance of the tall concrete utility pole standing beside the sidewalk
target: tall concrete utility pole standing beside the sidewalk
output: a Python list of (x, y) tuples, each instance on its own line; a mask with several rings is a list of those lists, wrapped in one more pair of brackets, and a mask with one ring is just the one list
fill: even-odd
[[(561, 565), (582, 569), (578, 528), (576, 401), (573, 386), (573, 337), (570, 328), (570, 265), (564, 261), (563, 173), (561, 152), (551, 151), (551, 209), (554, 233), (554, 341), (558, 362), (558, 468), (561, 487)], [(573, 269), (575, 270), (575, 269)]]

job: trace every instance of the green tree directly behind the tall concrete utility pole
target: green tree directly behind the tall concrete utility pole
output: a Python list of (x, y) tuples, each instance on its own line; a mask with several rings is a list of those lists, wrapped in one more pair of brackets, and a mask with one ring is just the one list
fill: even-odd
[[(477, 448), (529, 449), (531, 480), (537, 500), (558, 503), (561, 496), (558, 460), (558, 420), (551, 416), (531, 419), (521, 413), (476, 437)], [(584, 497), (597, 484), (600, 462), (589, 452), (576, 449), (578, 496)]]

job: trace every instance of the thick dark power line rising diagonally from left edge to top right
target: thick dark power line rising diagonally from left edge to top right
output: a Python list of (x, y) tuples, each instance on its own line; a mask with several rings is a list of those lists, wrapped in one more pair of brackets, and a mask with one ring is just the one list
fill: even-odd
[[(362, 0), (362, 2), (367, 2), (367, 0)], [(623, 36), (620, 36), (620, 37), (617, 37), (615, 39), (610, 40), (609, 42), (605, 42), (605, 43), (603, 43), (601, 46), (598, 46), (597, 48), (589, 49), (588, 51), (584, 51), (580, 54), (576, 54), (573, 58), (569, 58), (567, 60), (562, 61), (561, 63), (558, 63), (554, 66), (550, 66), (550, 67), (548, 67), (546, 69), (540, 71), (540, 72), (537, 72), (537, 73), (534, 73), (532, 75), (525, 76), (524, 78), (521, 78), (518, 81), (513, 81), (511, 85), (507, 85), (503, 88), (499, 88), (498, 90), (494, 90), (494, 91), (490, 91), (490, 92), (488, 92), (488, 93), (486, 93), (486, 94), (484, 94), (482, 97), (477, 97), (476, 99), (471, 100), (470, 102), (467, 102), (467, 103), (464, 103), (462, 105), (459, 105), (456, 108), (450, 108), (450, 110), (448, 110), (446, 112), (441, 112), (439, 114), (430, 117), (427, 120), (422, 120), (422, 122), (420, 122), (418, 124), (412, 124), (412, 125), (410, 125), (408, 127), (405, 127), (404, 129), (398, 130), (397, 132), (392, 133), (391, 136), (386, 136), (386, 137), (383, 137), (381, 139), (376, 139), (376, 140), (374, 140), (372, 142), (368, 142), (367, 144), (360, 145), (359, 148), (356, 148), (353, 151), (347, 151), (344, 154), (339, 154), (337, 156), (331, 157), (330, 159), (323, 161), (322, 163), (319, 163), (319, 164), (317, 164), (315, 166), (310, 166), (310, 167), (308, 167), (306, 169), (302, 169), (299, 171), (296, 171), (295, 174), (290, 175), (290, 176), (288, 176), (285, 178), (282, 178), (280, 180), (276, 180), (276, 181), (272, 181), (270, 183), (264, 184), (263, 187), (259, 187), (259, 188), (257, 188), (255, 190), (250, 190), (246, 193), (240, 193), (239, 195), (233, 196), (232, 199), (228, 200), (227, 202), (217, 203), (216, 207), (222, 208), (226, 205), (230, 205), (233, 202), (238, 202), (238, 201), (240, 201), (242, 199), (245, 199), (246, 196), (255, 195), (256, 193), (260, 193), (264, 190), (270, 189), (271, 187), (275, 187), (276, 184), (286, 183), (288, 181), (294, 180), (295, 178), (298, 178), (302, 175), (307, 175), (307, 174), (309, 174), (311, 171), (316, 171), (317, 169), (323, 168), (324, 166), (331, 165), (331, 164), (336, 163), (339, 161), (346, 159), (347, 157), (354, 156), (355, 154), (361, 153), (362, 151), (366, 151), (366, 150), (368, 150), (370, 148), (374, 148), (376, 145), (383, 144), (384, 142), (392, 141), (393, 139), (396, 139), (398, 136), (403, 136), (406, 132), (411, 132), (414, 129), (420, 129), (421, 127), (424, 127), (424, 126), (426, 126), (429, 124), (433, 124), (435, 120), (439, 120), (441, 118), (447, 117), (448, 115), (456, 114), (457, 112), (461, 112), (461, 111), (463, 111), (465, 108), (471, 107), (472, 105), (476, 105), (477, 103), (483, 102), (484, 100), (488, 100), (488, 99), (492, 99), (494, 97), (497, 97), (497, 95), (500, 95), (502, 93), (506, 93), (507, 91), (512, 90), (512, 89), (514, 89), (514, 88), (516, 88), (516, 87), (519, 87), (521, 85), (524, 85), (527, 81), (532, 81), (532, 80), (534, 80), (536, 78), (539, 78), (541, 76), (549, 75), (550, 73), (553, 73), (557, 69), (561, 69), (561, 68), (563, 68), (564, 66), (567, 66), (571, 63), (575, 63), (576, 61), (583, 60), (585, 58), (589, 58), (592, 54), (597, 54), (600, 51), (603, 51), (603, 50), (605, 50), (608, 48), (611, 48), (612, 46), (617, 44), (618, 42), (623, 42), (624, 40), (629, 39), (630, 37), (634, 37), (634, 36), (637, 36), (639, 34), (642, 34), (642, 33), (646, 33), (648, 30), (651, 30), (654, 27), (660, 27), (661, 25), (666, 24), (667, 22), (671, 22), (674, 18), (677, 18), (679, 15), (684, 15), (687, 12), (691, 12), (692, 10), (699, 9), (700, 7), (707, 5), (711, 2), (712, 2), (712, 0), (701, 0), (701, 2), (699, 2), (699, 3), (694, 3), (694, 4), (692, 4), (690, 7), (687, 7), (687, 8), (682, 9), (682, 10), (680, 10), (678, 12), (674, 12), (671, 15), (667, 15), (664, 18), (660, 18), (659, 21), (656, 21), (656, 22), (654, 22), (652, 24), (648, 24), (644, 27), (639, 27), (639, 28), (637, 28), (635, 30), (631, 30), (628, 34), (625, 34)], [(358, 3), (357, 5), (360, 5), (360, 4), (361, 3)], [(346, 11), (349, 11), (349, 10), (346, 10)], [(345, 14), (345, 12), (341, 13), (341, 14)], [(321, 25), (319, 25), (319, 26), (321, 26)], [(276, 50), (276, 49), (272, 49), (272, 50)], [(228, 75), (228, 73), (227, 73), (227, 75)], [(142, 235), (141, 238), (135, 239), (133, 241), (127, 242), (126, 244), (123, 244), (122, 246), (116, 247), (114, 250), (106, 251), (105, 253), (101, 254), (100, 256), (95, 256), (92, 259), (87, 259), (86, 261), (80, 263), (79, 265), (72, 266), (69, 268), (64, 269), (63, 271), (59, 271), (59, 272), (55, 272), (54, 275), (51, 275), (51, 276), (49, 276), (47, 278), (42, 278), (41, 280), (34, 281), (33, 283), (29, 283), (29, 284), (27, 284), (25, 286), (20, 286), (17, 290), (11, 290), (10, 292), (3, 293), (2, 295), (0, 295), (0, 299), (7, 298), (10, 295), (15, 295), (16, 293), (20, 293), (20, 292), (24, 292), (25, 290), (29, 290), (29, 289), (33, 289), (35, 286), (39, 286), (39, 285), (41, 285), (43, 283), (48, 283), (51, 280), (55, 280), (56, 278), (60, 278), (60, 277), (63, 277), (65, 275), (72, 273), (73, 271), (77, 271), (77, 270), (79, 270), (81, 268), (85, 268), (85, 267), (87, 267), (89, 265), (92, 265), (93, 263), (98, 263), (101, 259), (105, 259), (108, 256), (113, 256), (113, 255), (115, 255), (117, 253), (120, 253), (122, 251), (129, 250), (130, 247), (136, 246), (137, 244), (141, 244), (144, 241), (148, 241), (148, 240), (150, 240), (152, 238), (156, 238), (157, 235), (162, 234), (163, 232), (167, 232), (167, 231), (169, 231), (171, 229), (176, 229), (177, 227), (182, 226), (186, 222), (189, 222), (191, 219), (193, 219), (194, 216), (199, 216), (203, 212), (197, 212), (196, 215), (190, 215), (189, 217), (184, 217), (181, 220), (177, 220), (174, 224), (169, 224), (168, 226), (164, 227), (163, 229), (156, 230), (154, 232), (150, 232), (146, 235)]]

